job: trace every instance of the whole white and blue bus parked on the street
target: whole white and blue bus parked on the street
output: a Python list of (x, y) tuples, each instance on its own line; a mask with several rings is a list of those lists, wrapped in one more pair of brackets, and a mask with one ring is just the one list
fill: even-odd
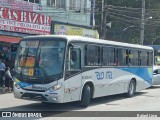
[(29, 36), (15, 60), (15, 98), (42, 103), (80, 101), (150, 87), (153, 49), (80, 36)]

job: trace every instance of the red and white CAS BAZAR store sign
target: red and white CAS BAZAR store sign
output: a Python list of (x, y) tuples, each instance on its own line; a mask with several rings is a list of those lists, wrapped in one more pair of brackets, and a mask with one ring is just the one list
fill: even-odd
[(39, 13), (0, 8), (0, 29), (29, 34), (50, 34), (51, 17)]

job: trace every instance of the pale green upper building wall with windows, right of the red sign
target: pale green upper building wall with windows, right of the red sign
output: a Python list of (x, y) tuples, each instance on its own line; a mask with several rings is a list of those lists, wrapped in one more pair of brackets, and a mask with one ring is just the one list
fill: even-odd
[[(94, 1), (95, 0), (41, 0), (42, 11), (40, 12), (51, 16), (53, 21), (94, 26), (94, 10), (92, 9), (94, 7)], [(37, 12), (39, 11), (37, 10)]]

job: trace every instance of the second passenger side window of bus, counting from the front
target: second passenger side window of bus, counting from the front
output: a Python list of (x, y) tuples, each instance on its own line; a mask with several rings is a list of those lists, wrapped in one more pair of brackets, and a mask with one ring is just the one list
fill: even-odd
[(102, 47), (102, 66), (115, 65), (115, 49), (112, 47)]

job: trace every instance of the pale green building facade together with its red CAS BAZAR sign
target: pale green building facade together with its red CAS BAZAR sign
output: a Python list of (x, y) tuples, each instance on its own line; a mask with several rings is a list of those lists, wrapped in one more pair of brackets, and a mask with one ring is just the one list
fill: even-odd
[(0, 0), (0, 34), (50, 34), (51, 21), (94, 27), (95, 0)]

